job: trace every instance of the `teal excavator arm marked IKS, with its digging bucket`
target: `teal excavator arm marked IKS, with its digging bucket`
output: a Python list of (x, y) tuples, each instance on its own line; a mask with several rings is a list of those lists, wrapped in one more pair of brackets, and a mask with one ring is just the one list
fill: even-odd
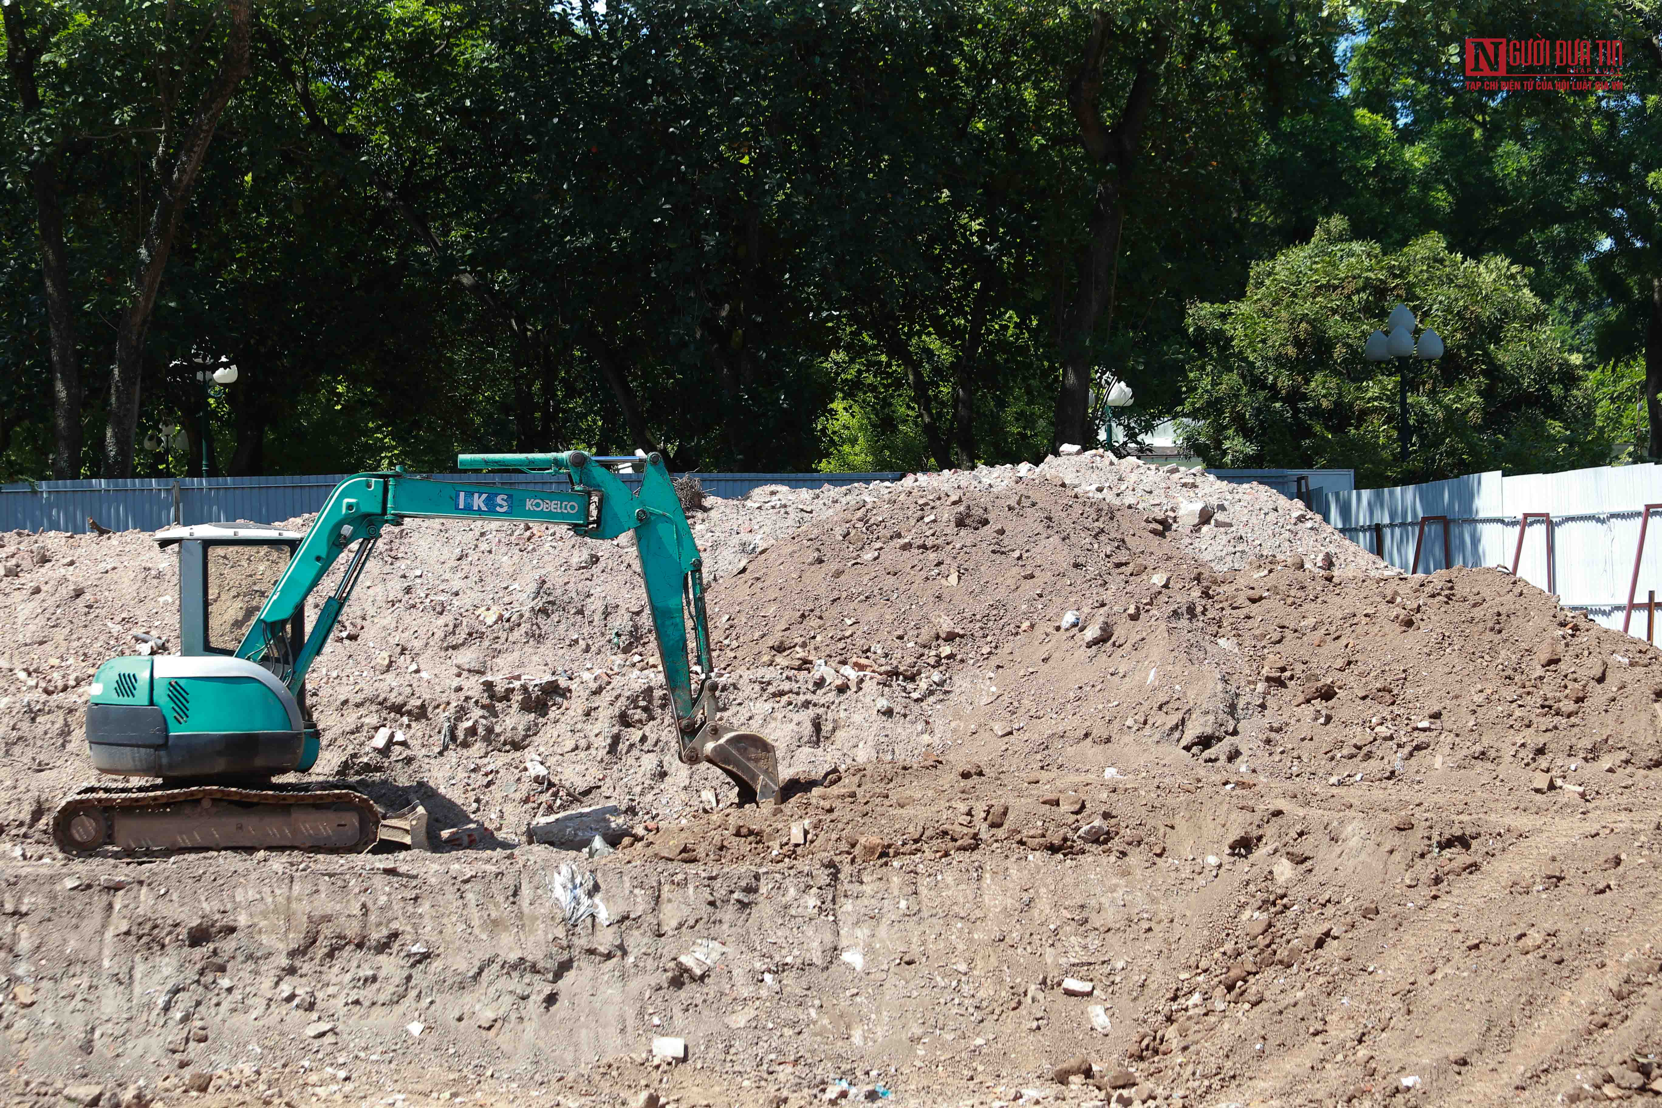
[[(638, 462), (595, 458), (582, 450), (464, 453), (457, 458), (464, 470), (565, 473), (572, 483), (568, 492), (434, 482), (401, 470), (357, 473), (342, 480), (329, 493), (317, 520), (261, 606), (236, 650), (238, 658), (263, 664), (297, 694), (312, 661), (334, 633), (341, 610), (357, 586), (382, 528), (396, 527), (406, 518), (529, 520), (570, 527), (588, 538), (617, 538), (633, 532), (658, 638), (658, 658), (675, 706), (681, 761), (708, 761), (733, 777), (746, 799), (753, 796), (763, 804), (778, 802), (779, 774), (773, 744), (760, 734), (730, 731), (716, 719), (703, 560), (663, 458), (656, 453), (645, 458), (638, 493), (607, 467), (607, 462), (623, 460)], [(286, 636), (289, 620), (304, 608), (352, 543), (357, 548), (346, 571), (322, 601), (306, 641), (294, 650)], [(693, 623), (691, 656), (686, 615), (691, 615)]]

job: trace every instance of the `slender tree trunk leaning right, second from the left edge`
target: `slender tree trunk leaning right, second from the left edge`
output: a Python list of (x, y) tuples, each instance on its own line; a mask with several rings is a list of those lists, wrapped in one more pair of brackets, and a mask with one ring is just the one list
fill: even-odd
[[(196, 105), (191, 125), (179, 138), (178, 151), (160, 183), (160, 198), (145, 231), (133, 269), (133, 289), (126, 311), (121, 312), (115, 337), (115, 364), (110, 369), (110, 414), (105, 424), (103, 475), (130, 477), (133, 473), (133, 435), (138, 432), (140, 385), (145, 369), (145, 339), (150, 336), (150, 317), (156, 306), (156, 292), (168, 267), (173, 238), (179, 216), (189, 203), (191, 189), (208, 156), (219, 115), (231, 101), (238, 85), (248, 76), (248, 23), (253, 0), (226, 0), (231, 28), (219, 58), (219, 73)], [(161, 168), (158, 150), (158, 168)]]

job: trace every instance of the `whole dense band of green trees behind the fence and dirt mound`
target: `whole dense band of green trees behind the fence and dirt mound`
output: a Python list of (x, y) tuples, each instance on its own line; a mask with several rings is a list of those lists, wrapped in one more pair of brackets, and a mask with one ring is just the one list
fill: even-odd
[[(1092, 440), (1119, 379), (1218, 465), (1662, 449), (1639, 3), (3, 15), (5, 480), (972, 465)], [(1622, 40), (1624, 88), (1464, 88), (1466, 35), (1536, 33)], [(1449, 346), (1406, 468), (1361, 362), (1393, 296)]]

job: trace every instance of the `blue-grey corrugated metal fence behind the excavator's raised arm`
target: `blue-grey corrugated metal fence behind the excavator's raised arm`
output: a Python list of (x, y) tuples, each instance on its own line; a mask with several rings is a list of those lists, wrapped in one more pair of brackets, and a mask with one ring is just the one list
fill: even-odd
[[(88, 518), (110, 530), (146, 530), (183, 523), (249, 520), (271, 523), (322, 507), (329, 490), (351, 473), (304, 477), (184, 477), (131, 480), (40, 482), (0, 485), (0, 530), (86, 532)], [(548, 473), (420, 473), (432, 480), (519, 488), (563, 488), (563, 477)], [(625, 483), (640, 477), (623, 473)], [(763, 485), (823, 488), (899, 480), (904, 473), (695, 473), (715, 497), (743, 497)], [(175, 513), (175, 505), (178, 512)]]

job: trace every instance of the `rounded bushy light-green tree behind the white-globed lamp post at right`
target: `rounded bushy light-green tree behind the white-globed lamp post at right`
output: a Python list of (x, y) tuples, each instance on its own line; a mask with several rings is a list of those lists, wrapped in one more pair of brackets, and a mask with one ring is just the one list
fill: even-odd
[[(1398, 362), (1363, 339), (1406, 302), (1448, 352), (1409, 360), (1409, 460), (1399, 460)], [(1195, 304), (1185, 442), (1213, 465), (1348, 467), (1360, 485), (1476, 470), (1602, 463), (1579, 359), (1526, 274), (1426, 234), (1401, 251), (1341, 221), (1251, 269), (1246, 296)]]

